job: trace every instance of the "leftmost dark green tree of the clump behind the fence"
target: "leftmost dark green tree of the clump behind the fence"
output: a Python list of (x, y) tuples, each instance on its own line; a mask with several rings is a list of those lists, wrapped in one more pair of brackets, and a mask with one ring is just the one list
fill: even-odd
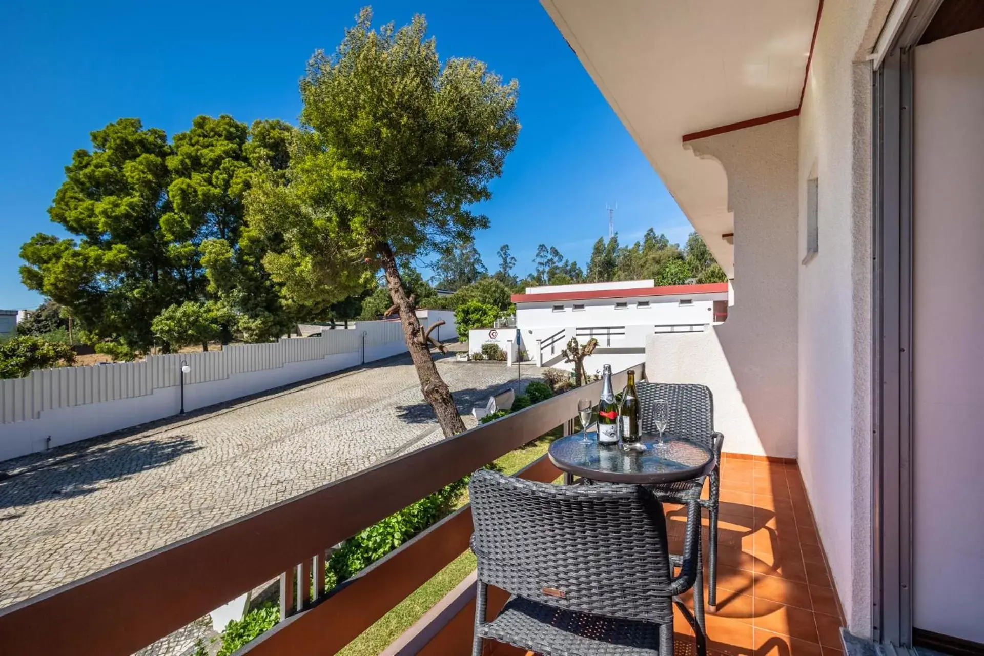
[(120, 119), (91, 136), (92, 150), (75, 151), (48, 209), (76, 238), (31, 237), (21, 248), (21, 279), (97, 337), (147, 347), (154, 317), (204, 290), (194, 254), (169, 243), (161, 228), (173, 211), (172, 149), (162, 130), (144, 129), (139, 119)]

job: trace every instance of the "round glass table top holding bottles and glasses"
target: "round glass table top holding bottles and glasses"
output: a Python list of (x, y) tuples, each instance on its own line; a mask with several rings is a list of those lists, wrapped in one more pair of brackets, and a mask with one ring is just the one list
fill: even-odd
[(664, 444), (656, 445), (655, 435), (643, 435), (641, 450), (598, 445), (597, 436), (588, 433), (589, 444), (580, 433), (554, 441), (550, 460), (562, 470), (592, 481), (657, 485), (703, 476), (710, 471), (714, 455), (710, 449), (685, 437), (663, 434)]

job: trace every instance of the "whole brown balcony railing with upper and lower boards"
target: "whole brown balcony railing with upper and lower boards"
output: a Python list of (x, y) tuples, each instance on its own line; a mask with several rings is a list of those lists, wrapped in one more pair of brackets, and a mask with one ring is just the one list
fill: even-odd
[[(645, 376), (645, 365), (633, 368)], [(625, 372), (614, 379), (621, 387)], [(238, 653), (334, 654), (467, 549), (470, 508), (326, 593), (318, 582), (325, 580), (329, 547), (551, 429), (570, 426), (578, 399), (598, 394), (599, 385), (555, 396), (2, 609), (2, 651), (129, 656), (280, 576), (284, 619)], [(551, 481), (560, 471), (544, 456), (520, 475)]]

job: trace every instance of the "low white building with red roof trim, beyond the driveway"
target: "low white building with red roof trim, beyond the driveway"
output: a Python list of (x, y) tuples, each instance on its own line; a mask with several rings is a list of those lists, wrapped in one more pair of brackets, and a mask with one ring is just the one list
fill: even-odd
[(646, 337), (707, 330), (727, 318), (728, 284), (655, 286), (653, 280), (527, 287), (514, 294), (520, 345), (541, 367), (572, 369), (561, 351), (571, 337), (598, 347), (585, 362), (592, 373), (639, 362)]

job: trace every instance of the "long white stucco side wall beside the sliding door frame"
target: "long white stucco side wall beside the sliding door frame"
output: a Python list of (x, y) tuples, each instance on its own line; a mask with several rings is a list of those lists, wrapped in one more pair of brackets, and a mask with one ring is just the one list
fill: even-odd
[[(807, 179), (819, 252), (799, 265), (799, 466), (847, 626), (871, 633), (871, 65), (888, 7), (829, 0), (800, 110), (798, 258)], [(878, 14), (879, 18), (874, 18)]]

